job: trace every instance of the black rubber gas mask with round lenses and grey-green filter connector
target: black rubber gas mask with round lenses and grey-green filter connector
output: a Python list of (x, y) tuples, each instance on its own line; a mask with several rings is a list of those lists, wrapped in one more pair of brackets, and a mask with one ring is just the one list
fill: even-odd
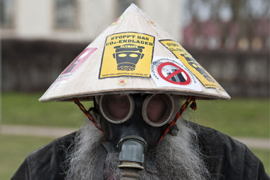
[(101, 95), (95, 98), (100, 126), (119, 150), (119, 168), (143, 169), (144, 154), (175, 117), (175, 98), (168, 94)]

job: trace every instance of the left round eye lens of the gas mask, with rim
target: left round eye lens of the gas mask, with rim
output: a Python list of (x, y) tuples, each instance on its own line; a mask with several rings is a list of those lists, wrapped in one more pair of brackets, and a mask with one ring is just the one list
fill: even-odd
[(102, 115), (109, 122), (125, 122), (130, 118), (134, 109), (131, 98), (128, 95), (102, 95), (99, 100)]

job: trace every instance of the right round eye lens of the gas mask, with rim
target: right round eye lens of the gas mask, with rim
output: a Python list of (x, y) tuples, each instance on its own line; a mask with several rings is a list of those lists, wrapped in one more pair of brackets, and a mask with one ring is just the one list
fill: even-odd
[(146, 97), (143, 105), (144, 120), (151, 126), (165, 125), (173, 110), (172, 98), (166, 94), (157, 94)]

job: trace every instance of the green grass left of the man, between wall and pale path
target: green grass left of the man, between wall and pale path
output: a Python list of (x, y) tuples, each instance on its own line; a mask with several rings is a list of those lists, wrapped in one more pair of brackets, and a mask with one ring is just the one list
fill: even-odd
[(2, 123), (79, 127), (80, 120), (86, 118), (74, 102), (38, 102), (41, 95), (41, 93), (3, 93)]

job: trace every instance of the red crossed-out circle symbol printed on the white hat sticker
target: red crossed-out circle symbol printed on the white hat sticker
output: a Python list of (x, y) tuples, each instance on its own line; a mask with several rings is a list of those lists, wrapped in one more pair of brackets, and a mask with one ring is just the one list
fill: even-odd
[(189, 85), (191, 83), (188, 73), (174, 63), (161, 63), (157, 70), (158, 75), (169, 83), (176, 85)]

